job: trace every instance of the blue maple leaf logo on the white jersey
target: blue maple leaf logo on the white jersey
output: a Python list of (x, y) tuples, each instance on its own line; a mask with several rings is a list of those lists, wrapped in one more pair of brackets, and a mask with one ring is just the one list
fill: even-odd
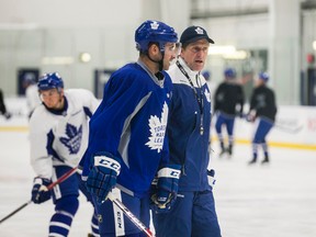
[(82, 138), (82, 125), (77, 129), (71, 124), (66, 125), (66, 135), (68, 137), (60, 137), (59, 140), (69, 149), (70, 154), (78, 154)]

